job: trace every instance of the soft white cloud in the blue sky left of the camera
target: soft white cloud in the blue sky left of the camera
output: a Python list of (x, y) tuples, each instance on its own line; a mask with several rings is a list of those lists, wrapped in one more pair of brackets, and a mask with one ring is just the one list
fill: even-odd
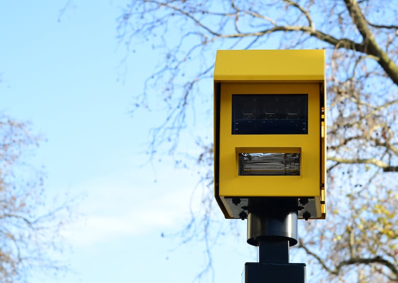
[(85, 216), (64, 232), (73, 245), (94, 245), (149, 233), (160, 235), (165, 229), (181, 228), (181, 223), (189, 220), (195, 178), (185, 176), (186, 171), (169, 170), (154, 183), (145, 180), (144, 171), (135, 169), (134, 173), (133, 178), (130, 173), (109, 175), (79, 185), (88, 190), (88, 198), (82, 204)]

